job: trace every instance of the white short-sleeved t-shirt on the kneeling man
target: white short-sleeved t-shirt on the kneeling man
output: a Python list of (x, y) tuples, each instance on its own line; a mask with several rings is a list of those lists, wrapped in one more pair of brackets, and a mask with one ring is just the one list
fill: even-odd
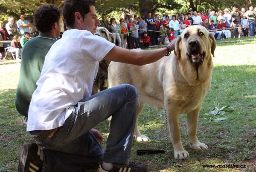
[(45, 57), (29, 106), (27, 131), (63, 126), (74, 106), (91, 95), (99, 61), (114, 46), (89, 31), (64, 32)]

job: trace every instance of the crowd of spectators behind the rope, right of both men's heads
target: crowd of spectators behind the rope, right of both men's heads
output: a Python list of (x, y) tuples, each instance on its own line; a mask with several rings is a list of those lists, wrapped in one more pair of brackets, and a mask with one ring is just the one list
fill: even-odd
[[(120, 46), (120, 37), (122, 40), (121, 47), (126, 48), (127, 43), (128, 49), (135, 49), (141, 48), (141, 46), (163, 45), (166, 38), (172, 41), (186, 27), (192, 25), (204, 26), (215, 35), (217, 40), (247, 37), (249, 33), (250, 36), (254, 36), (255, 20), (256, 7), (253, 9), (251, 6), (248, 11), (245, 11), (244, 8), (240, 11), (233, 7), (232, 11), (229, 9), (224, 9), (224, 11), (208, 9), (207, 12), (204, 10), (199, 12), (190, 9), (186, 14), (175, 13), (169, 15), (168, 12), (165, 12), (162, 16), (151, 12), (148, 12), (146, 17), (137, 17), (137, 15), (132, 17), (132, 14), (125, 14), (119, 20), (120, 24), (117, 24), (116, 20), (114, 22), (109, 21), (107, 15), (102, 14), (100, 23), (102, 27), (109, 29), (113, 34), (117, 33), (113, 26), (119, 26), (119, 35), (115, 35), (118, 41), (116, 45)], [(146, 43), (144, 40), (146, 40)]]

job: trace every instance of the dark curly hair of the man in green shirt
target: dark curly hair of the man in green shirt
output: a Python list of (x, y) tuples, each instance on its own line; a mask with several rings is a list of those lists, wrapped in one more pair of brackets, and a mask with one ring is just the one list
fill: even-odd
[(53, 4), (42, 5), (34, 12), (34, 25), (40, 32), (49, 32), (60, 19), (61, 9)]

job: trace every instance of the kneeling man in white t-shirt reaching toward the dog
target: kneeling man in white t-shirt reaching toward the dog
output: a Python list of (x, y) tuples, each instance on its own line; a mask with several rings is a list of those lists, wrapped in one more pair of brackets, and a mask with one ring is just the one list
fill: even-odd
[[(93, 79), (102, 59), (144, 65), (174, 50), (175, 41), (162, 49), (134, 52), (94, 36), (100, 22), (95, 0), (66, 0), (67, 26), (45, 57), (37, 89), (29, 106), (27, 131), (36, 143), (21, 148), (19, 172), (81, 171), (147, 172), (145, 164), (128, 161), (136, 121), (137, 91), (124, 84), (91, 96)], [(106, 150), (93, 129), (112, 116)], [(40, 151), (40, 146), (44, 149)], [(41, 155), (41, 156), (39, 156)], [(31, 165), (32, 164), (32, 165)]]

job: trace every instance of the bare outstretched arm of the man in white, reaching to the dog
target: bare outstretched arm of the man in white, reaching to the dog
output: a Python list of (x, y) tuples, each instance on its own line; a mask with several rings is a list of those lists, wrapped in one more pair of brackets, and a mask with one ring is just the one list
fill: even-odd
[[(176, 39), (172, 40), (169, 43), (171, 46), (171, 51), (175, 49)], [(105, 60), (134, 64), (142, 66), (149, 63), (154, 63), (160, 58), (164, 57), (167, 54), (167, 48), (161, 48), (156, 50), (146, 50), (146, 51), (131, 51), (128, 49), (121, 48), (119, 46), (114, 46), (110, 52), (104, 57)]]

